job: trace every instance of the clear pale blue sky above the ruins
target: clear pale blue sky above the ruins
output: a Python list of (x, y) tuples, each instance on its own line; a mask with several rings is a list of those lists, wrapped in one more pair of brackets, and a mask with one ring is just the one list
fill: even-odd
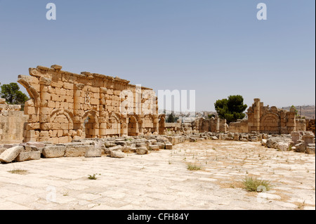
[[(46, 20), (49, 2), (57, 20)], [(256, 18), (261, 2), (268, 20)], [(195, 89), (197, 110), (235, 94), (315, 105), (315, 1), (0, 0), (1, 84), (54, 64)]]

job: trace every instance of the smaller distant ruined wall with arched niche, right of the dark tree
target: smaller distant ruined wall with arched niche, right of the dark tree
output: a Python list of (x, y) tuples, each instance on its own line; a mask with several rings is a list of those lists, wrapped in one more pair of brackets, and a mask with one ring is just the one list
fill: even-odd
[(294, 108), (290, 111), (277, 107), (263, 106), (260, 99), (254, 99), (254, 104), (249, 107), (248, 119), (230, 123), (229, 131), (269, 134), (289, 134), (292, 131), (305, 131), (305, 119), (296, 119)]

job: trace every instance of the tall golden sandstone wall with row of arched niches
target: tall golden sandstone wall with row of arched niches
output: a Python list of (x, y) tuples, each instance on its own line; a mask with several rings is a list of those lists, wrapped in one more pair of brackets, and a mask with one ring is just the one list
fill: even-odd
[(61, 69), (37, 66), (29, 68), (30, 76), (18, 77), (31, 97), (25, 103), (25, 142), (146, 135), (158, 133), (159, 124), (164, 129), (152, 89), (119, 77)]

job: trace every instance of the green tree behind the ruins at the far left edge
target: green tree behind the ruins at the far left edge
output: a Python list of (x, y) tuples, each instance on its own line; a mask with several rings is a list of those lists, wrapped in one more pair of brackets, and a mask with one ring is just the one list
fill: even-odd
[(28, 100), (27, 95), (20, 91), (18, 84), (11, 82), (11, 84), (4, 84), (1, 86), (1, 98), (6, 99), (8, 104), (18, 104), (22, 105)]

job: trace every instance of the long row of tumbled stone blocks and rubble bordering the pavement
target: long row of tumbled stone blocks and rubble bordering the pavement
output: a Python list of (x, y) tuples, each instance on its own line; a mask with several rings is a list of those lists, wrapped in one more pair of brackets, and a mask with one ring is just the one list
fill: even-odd
[(315, 154), (315, 136), (310, 131), (296, 131), (283, 135), (266, 133), (190, 133), (173, 136), (121, 136), (107, 138), (76, 139), (72, 143), (54, 145), (49, 142), (29, 142), (0, 145), (0, 162), (22, 162), (40, 158), (58, 157), (101, 157), (103, 154), (124, 158), (126, 153), (148, 154), (158, 150), (172, 150), (173, 145), (185, 141), (235, 140), (261, 141), (261, 145), (280, 151), (294, 150)]

